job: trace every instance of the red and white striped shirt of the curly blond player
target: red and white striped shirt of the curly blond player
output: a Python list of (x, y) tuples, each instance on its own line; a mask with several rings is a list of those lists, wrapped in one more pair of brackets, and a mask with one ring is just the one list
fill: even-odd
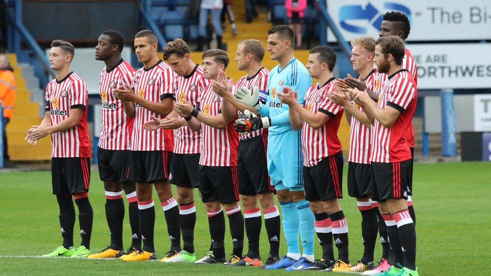
[[(373, 69), (364, 81), (369, 91), (380, 94), (380, 87), (386, 79), (386, 74), (379, 73), (377, 69)], [(361, 77), (358, 80), (361, 80)], [(363, 109), (358, 104), (355, 103), (354, 105), (363, 112)], [(348, 161), (361, 164), (370, 163), (370, 138), (370, 128), (363, 125), (354, 116), (351, 116)]]

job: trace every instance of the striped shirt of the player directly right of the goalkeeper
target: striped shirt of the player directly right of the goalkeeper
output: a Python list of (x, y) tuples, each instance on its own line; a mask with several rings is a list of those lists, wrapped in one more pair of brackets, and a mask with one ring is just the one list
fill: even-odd
[(319, 83), (308, 88), (304, 107), (308, 112), (322, 112), (329, 117), (319, 129), (313, 129), (307, 123), (302, 127), (303, 165), (312, 167), (322, 159), (337, 154), (343, 146), (338, 138), (339, 124), (343, 117), (343, 108), (331, 102), (328, 93), (334, 90), (336, 78), (332, 77), (319, 87)]

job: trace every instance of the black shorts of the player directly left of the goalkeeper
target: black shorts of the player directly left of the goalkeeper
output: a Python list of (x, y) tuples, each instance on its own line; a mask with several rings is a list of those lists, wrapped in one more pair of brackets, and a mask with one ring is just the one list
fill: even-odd
[(256, 196), (257, 194), (274, 192), (268, 175), (266, 161), (266, 145), (263, 136), (241, 140), (237, 155), (239, 194)]

